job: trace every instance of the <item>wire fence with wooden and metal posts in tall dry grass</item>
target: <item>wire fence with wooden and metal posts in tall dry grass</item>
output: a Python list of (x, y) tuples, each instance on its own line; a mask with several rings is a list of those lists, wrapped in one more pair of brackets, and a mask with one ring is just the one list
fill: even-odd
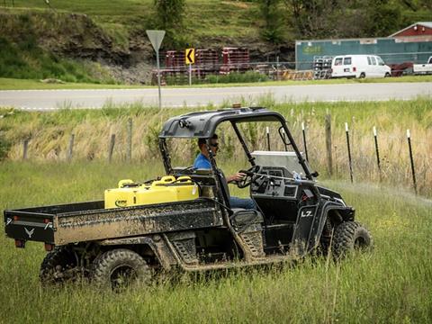
[[(292, 119), (289, 128), (293, 138), (303, 156), (308, 160), (312, 169), (320, 174), (336, 179), (347, 179), (353, 183), (359, 181), (398, 184), (410, 187), (413, 192), (428, 195), (432, 193), (431, 166), (432, 142), (417, 138), (415, 131), (404, 130), (397, 134), (383, 131), (371, 125), (370, 131), (357, 129), (356, 121), (336, 124), (327, 115), (324, 126), (316, 121)], [(247, 127), (247, 126), (242, 126)], [(139, 134), (136, 132), (139, 131)], [(243, 129), (246, 134), (247, 145), (256, 150), (290, 150), (280, 139), (279, 131), (274, 127), (257, 127)], [(420, 135), (419, 135), (420, 136)], [(422, 136), (427, 136), (422, 134)], [(137, 139), (146, 138), (137, 143)], [(67, 141), (67, 148), (58, 148), (58, 152), (50, 151), (44, 157), (38, 155), (38, 143), (32, 148), (33, 139), (23, 140), (22, 157), (24, 160), (52, 159), (71, 162), (73, 160), (93, 160), (102, 158), (112, 161), (146, 161), (159, 156), (157, 145), (157, 130), (134, 130), (133, 120), (126, 123), (126, 131), (111, 132), (106, 144), (94, 145), (94, 151), (80, 152), (76, 149), (79, 142), (76, 134), (71, 133)], [(80, 140), (88, 141), (81, 134)], [(36, 140), (34, 140), (36, 142)], [(244, 155), (240, 146), (234, 143), (236, 139), (224, 130), (220, 131), (221, 147), (225, 148), (220, 155), (228, 161), (240, 161)], [(187, 164), (193, 161), (197, 148), (194, 140), (175, 144), (169, 142), (173, 157), (176, 161)], [(99, 150), (99, 152), (97, 152)], [(32, 152), (32, 155), (29, 152)], [(63, 155), (59, 152), (63, 151)]]

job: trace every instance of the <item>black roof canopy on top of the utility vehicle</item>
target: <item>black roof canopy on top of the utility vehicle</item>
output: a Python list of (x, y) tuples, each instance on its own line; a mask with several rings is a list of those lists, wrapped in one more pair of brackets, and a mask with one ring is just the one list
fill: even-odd
[(280, 121), (284, 116), (266, 108), (227, 108), (218, 111), (190, 112), (170, 118), (164, 124), (159, 138), (209, 139), (222, 121)]

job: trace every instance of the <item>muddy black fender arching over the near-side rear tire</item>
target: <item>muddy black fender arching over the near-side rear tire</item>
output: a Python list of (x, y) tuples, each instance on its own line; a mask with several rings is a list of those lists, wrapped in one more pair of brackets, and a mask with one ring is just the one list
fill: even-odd
[(135, 237), (135, 238), (112, 238), (103, 239), (98, 242), (101, 246), (147, 246), (157, 258), (160, 266), (169, 270), (171, 266), (177, 265), (171, 249), (166, 245), (165, 240), (159, 235)]

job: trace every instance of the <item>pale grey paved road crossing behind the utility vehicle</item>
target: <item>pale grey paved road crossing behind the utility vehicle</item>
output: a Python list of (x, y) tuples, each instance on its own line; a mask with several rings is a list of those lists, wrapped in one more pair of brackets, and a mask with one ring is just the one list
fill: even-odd
[[(432, 96), (432, 83), (387, 83), (346, 85), (280, 85), (224, 88), (162, 88), (166, 107), (234, 103), (245, 98), (257, 102), (272, 94), (276, 102), (292, 101), (383, 101), (408, 100), (419, 95)], [(157, 88), (111, 90), (13, 90), (0, 91), (0, 106), (22, 109), (101, 108), (103, 103), (134, 103), (157, 106)]]

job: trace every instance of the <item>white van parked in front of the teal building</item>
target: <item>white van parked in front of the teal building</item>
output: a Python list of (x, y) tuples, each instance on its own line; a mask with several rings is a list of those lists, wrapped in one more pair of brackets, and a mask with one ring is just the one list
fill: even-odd
[(392, 68), (376, 55), (341, 55), (331, 62), (331, 77), (392, 76)]

